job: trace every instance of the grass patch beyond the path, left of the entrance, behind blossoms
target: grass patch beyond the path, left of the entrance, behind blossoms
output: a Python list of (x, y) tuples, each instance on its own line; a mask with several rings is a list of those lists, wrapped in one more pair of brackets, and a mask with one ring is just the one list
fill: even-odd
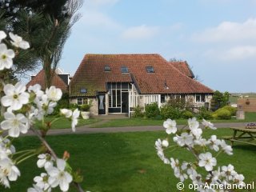
[[(54, 119), (53, 116), (47, 117), (45, 119), (45, 122), (52, 122)], [(100, 121), (99, 119), (96, 118), (90, 118), (90, 119), (83, 119), (83, 118), (79, 118), (78, 119), (78, 126), (86, 126), (86, 125), (90, 125), (94, 122), (98, 122)], [(34, 124), (35, 127), (40, 127), (42, 126), (42, 122), (35, 122)], [(71, 127), (71, 121), (68, 118), (59, 118), (56, 122), (54, 122), (51, 125), (51, 129), (69, 129)]]

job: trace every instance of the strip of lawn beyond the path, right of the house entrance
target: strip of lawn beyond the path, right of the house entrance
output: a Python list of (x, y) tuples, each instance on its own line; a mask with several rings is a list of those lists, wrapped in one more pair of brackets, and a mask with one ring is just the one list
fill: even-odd
[[(111, 119), (108, 122), (92, 125), (92, 127), (121, 127), (121, 126), (162, 126), (163, 120), (154, 120), (154, 119), (143, 119), (143, 118), (124, 118), (124, 119)], [(178, 125), (185, 125), (187, 122), (186, 119), (178, 119)], [(246, 113), (245, 120), (212, 120), (211, 122), (256, 122), (256, 113)]]

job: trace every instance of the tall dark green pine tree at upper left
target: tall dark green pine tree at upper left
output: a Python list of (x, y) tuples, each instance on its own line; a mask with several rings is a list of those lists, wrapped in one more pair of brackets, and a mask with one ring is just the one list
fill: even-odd
[(82, 0), (10, 2), (2, 17), (9, 23), (6, 30), (21, 35), (31, 47), (30, 52), (18, 52), (16, 74), (42, 64), (46, 87), (50, 86), (70, 29), (80, 18), (76, 12), (81, 6)]

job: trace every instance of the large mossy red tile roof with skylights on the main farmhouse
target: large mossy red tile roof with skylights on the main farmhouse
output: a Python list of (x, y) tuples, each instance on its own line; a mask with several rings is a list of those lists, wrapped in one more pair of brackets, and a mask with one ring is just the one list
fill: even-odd
[[(104, 71), (106, 65), (110, 72)], [(127, 66), (129, 73), (122, 74), (121, 66)], [(146, 66), (153, 66), (154, 73), (147, 73)], [(141, 94), (213, 93), (159, 54), (86, 54), (70, 82), (70, 96), (106, 92), (107, 82), (135, 82)], [(87, 94), (80, 93), (82, 88), (86, 88)]]

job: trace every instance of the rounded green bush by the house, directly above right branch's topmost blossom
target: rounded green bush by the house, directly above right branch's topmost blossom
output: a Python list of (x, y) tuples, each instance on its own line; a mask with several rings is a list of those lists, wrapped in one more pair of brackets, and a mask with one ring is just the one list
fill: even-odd
[(178, 119), (182, 117), (181, 110), (179, 110), (178, 108), (174, 108), (173, 106), (170, 106), (168, 104), (161, 107), (160, 114), (162, 116), (162, 119)]

